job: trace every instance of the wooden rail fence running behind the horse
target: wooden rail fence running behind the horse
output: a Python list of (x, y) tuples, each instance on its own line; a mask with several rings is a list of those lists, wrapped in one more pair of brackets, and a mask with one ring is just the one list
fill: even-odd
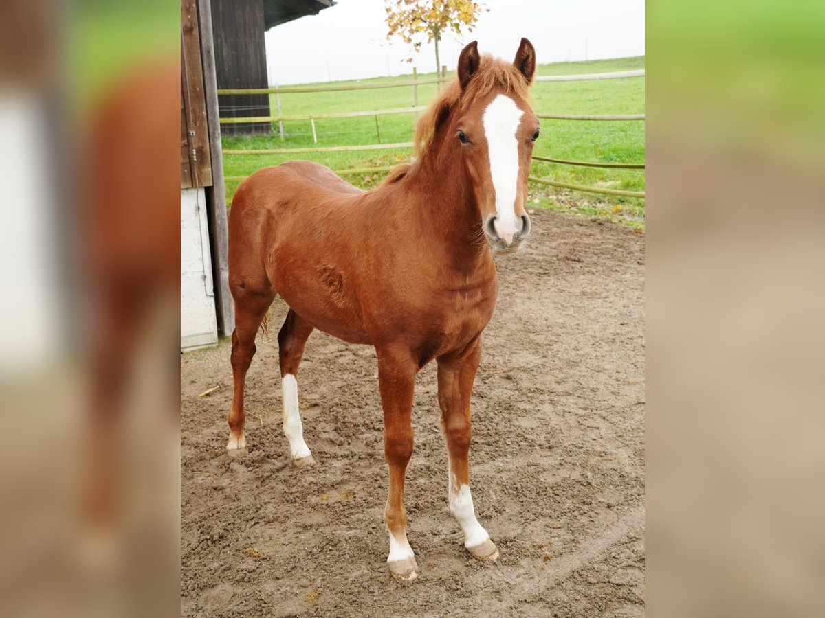
[[(644, 76), (644, 69), (639, 69), (636, 71), (619, 71), (615, 73), (586, 73), (586, 74), (579, 74), (579, 75), (545, 75), (535, 77), (536, 82), (570, 82), (570, 81), (578, 81), (578, 80), (596, 80), (596, 79), (620, 79), (625, 77), (643, 77)], [(318, 119), (338, 119), (338, 118), (358, 118), (364, 116), (375, 116), (376, 126), (378, 122), (379, 115), (394, 115), (394, 114), (411, 114), (417, 113), (419, 111), (423, 111), (427, 109), (426, 105), (417, 105), (418, 102), (418, 86), (423, 84), (441, 84), (446, 82), (446, 67), (442, 69), (442, 76), (437, 77), (434, 79), (425, 79), (425, 80), (418, 80), (417, 79), (417, 71), (413, 69), (413, 80), (404, 81), (404, 82), (386, 82), (386, 83), (370, 83), (370, 84), (353, 84), (351, 86), (326, 86), (326, 87), (271, 87), (271, 88), (247, 88), (247, 89), (225, 89), (219, 90), (218, 94), (288, 94), (288, 93), (304, 93), (304, 92), (341, 92), (341, 91), (356, 91), (356, 90), (369, 90), (375, 88), (394, 88), (394, 87), (413, 87), (413, 96), (414, 96), (414, 103), (416, 105), (410, 107), (403, 107), (403, 108), (396, 108), (393, 110), (364, 110), (364, 111), (352, 111), (352, 112), (337, 112), (332, 114), (305, 114), (305, 115), (277, 115), (277, 116), (256, 116), (253, 118), (221, 118), (221, 124), (233, 124), (233, 123), (246, 123), (246, 122), (277, 122), (282, 123), (284, 121), (294, 121), (294, 120), (309, 120), (312, 123), (313, 127), (313, 135), (315, 136), (315, 124), (314, 121)], [(280, 110), (280, 105), (279, 105)], [(605, 120), (605, 121), (627, 121), (627, 120), (641, 120), (645, 119), (643, 114), (631, 114), (631, 115), (566, 115), (566, 114), (536, 114), (541, 119), (554, 119), (554, 120)], [(317, 143), (317, 138), (315, 139)], [(380, 134), (379, 134), (379, 141), (380, 141)], [(412, 148), (414, 144), (412, 142), (401, 142), (401, 143), (377, 143), (377, 144), (367, 144), (361, 146), (332, 146), (332, 147), (301, 147), (301, 148), (266, 148), (266, 149), (258, 149), (258, 150), (233, 150), (233, 149), (224, 149), (224, 154), (234, 154), (234, 155), (271, 155), (271, 154), (291, 154), (291, 153), (298, 153), (298, 152), (357, 152), (357, 151), (365, 151), (365, 150), (388, 150), (394, 148)], [(534, 161), (540, 162), (549, 162), (549, 163), (556, 163), (559, 165), (567, 165), (567, 166), (583, 166), (583, 167), (602, 167), (602, 168), (614, 168), (614, 169), (633, 169), (633, 170), (643, 170), (644, 164), (643, 163), (608, 163), (608, 162), (582, 162), (582, 161), (568, 161), (564, 159), (555, 159), (550, 157), (532, 157)], [(347, 170), (333, 170), (339, 176), (347, 176), (353, 174), (364, 174), (370, 172), (381, 172), (381, 171), (390, 171), (393, 169), (394, 166), (380, 166), (380, 167), (361, 167), (361, 168), (352, 168)], [(226, 180), (238, 181), (243, 180), (246, 176), (227, 176)], [(535, 176), (530, 176), (529, 180), (540, 185), (549, 185), (554, 187), (559, 187), (562, 189), (570, 189), (575, 191), (582, 191), (585, 193), (594, 193), (594, 194), (602, 194), (602, 195), (620, 195), (623, 197), (632, 197), (632, 198), (641, 198), (644, 199), (644, 192), (643, 191), (626, 191), (626, 190), (619, 190), (619, 189), (603, 189), (601, 187), (591, 187), (586, 185), (574, 185), (571, 183), (565, 182), (558, 182), (556, 180), (550, 180), (549, 178), (538, 178)]]

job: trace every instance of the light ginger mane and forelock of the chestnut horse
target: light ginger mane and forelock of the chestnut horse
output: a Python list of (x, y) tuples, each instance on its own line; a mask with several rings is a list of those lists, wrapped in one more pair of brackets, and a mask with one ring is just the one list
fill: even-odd
[(459, 78), (455, 77), (419, 117), (415, 128), (416, 155), (421, 157), (427, 151), (438, 125), (450, 115), (455, 105), (460, 105), (462, 110), (466, 110), (479, 97), (488, 94), (495, 87), (502, 88), (506, 94), (526, 99), (530, 83), (512, 63), (495, 59), (490, 54), (483, 54), (479, 69), (473, 73), (463, 91)]

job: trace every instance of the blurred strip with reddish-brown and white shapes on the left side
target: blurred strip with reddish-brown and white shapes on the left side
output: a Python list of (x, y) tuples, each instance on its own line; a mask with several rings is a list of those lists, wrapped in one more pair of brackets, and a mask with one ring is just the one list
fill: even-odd
[(179, 606), (175, 9), (2, 7), (2, 616)]

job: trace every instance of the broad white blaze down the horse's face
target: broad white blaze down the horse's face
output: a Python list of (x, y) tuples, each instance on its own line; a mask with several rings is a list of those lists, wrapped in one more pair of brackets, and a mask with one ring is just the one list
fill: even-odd
[(498, 95), (482, 116), (484, 137), (490, 154), (490, 176), (496, 194), (496, 221), (498, 236), (512, 243), (518, 231), (516, 218), (516, 190), (518, 187), (518, 140), (516, 129), (524, 112), (509, 96)]

